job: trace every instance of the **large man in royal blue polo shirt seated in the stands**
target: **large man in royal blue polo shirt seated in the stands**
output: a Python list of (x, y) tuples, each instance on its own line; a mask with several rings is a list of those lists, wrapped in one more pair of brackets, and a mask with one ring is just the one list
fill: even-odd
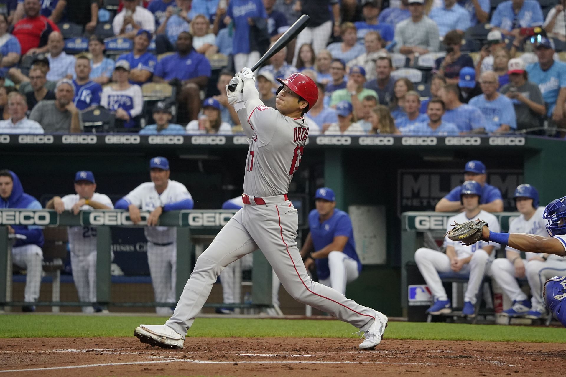
[(206, 88), (211, 77), (211, 64), (203, 54), (192, 47), (190, 33), (182, 32), (177, 38), (177, 53), (161, 59), (155, 68), (153, 81), (169, 82), (179, 87), (179, 123), (196, 119), (200, 111), (200, 90)]

